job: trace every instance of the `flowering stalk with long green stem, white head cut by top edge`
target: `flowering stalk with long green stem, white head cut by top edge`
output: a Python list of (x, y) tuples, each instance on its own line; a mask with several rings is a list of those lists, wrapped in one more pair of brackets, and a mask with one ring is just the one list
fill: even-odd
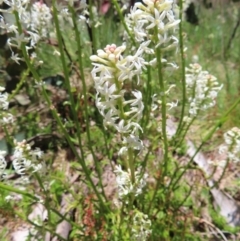
[[(135, 41), (139, 44), (150, 42), (148, 45), (152, 48), (145, 48), (145, 54), (149, 55), (150, 66), (156, 66), (158, 71), (158, 83), (160, 88), (161, 101), (161, 130), (163, 136), (163, 174), (158, 179), (155, 191), (148, 211), (151, 209), (157, 190), (162, 183), (165, 175), (168, 173), (168, 137), (167, 137), (167, 103), (165, 82), (163, 78), (163, 63), (168, 63), (162, 58), (162, 53), (174, 49), (178, 45), (178, 39), (175, 37), (175, 30), (180, 20), (176, 19), (175, 4), (170, 1), (143, 0), (143, 3), (136, 3), (126, 18), (128, 28), (134, 33)], [(148, 119), (148, 117), (147, 117)]]

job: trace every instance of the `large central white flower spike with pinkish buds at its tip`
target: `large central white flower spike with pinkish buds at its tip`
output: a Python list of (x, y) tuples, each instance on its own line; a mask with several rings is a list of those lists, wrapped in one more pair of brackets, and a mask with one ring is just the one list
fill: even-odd
[(107, 45), (104, 50), (98, 50), (97, 55), (90, 57), (94, 65), (91, 73), (97, 91), (96, 106), (104, 117), (105, 127), (114, 127), (123, 137), (125, 146), (119, 154), (125, 153), (128, 148), (143, 148), (138, 135), (142, 131), (139, 125), (144, 109), (142, 93), (124, 89), (126, 81), (131, 82), (134, 78), (139, 80), (145, 66), (141, 57), (143, 49), (140, 46), (135, 55), (124, 57), (122, 53), (125, 48), (124, 45)]

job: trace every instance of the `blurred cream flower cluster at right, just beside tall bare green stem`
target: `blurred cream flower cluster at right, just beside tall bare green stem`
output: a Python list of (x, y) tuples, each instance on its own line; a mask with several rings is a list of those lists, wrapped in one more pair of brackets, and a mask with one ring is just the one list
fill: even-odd
[(216, 103), (218, 92), (222, 85), (217, 78), (202, 70), (199, 64), (190, 64), (186, 68), (186, 89), (190, 103), (189, 114), (196, 116), (200, 110), (206, 110)]

